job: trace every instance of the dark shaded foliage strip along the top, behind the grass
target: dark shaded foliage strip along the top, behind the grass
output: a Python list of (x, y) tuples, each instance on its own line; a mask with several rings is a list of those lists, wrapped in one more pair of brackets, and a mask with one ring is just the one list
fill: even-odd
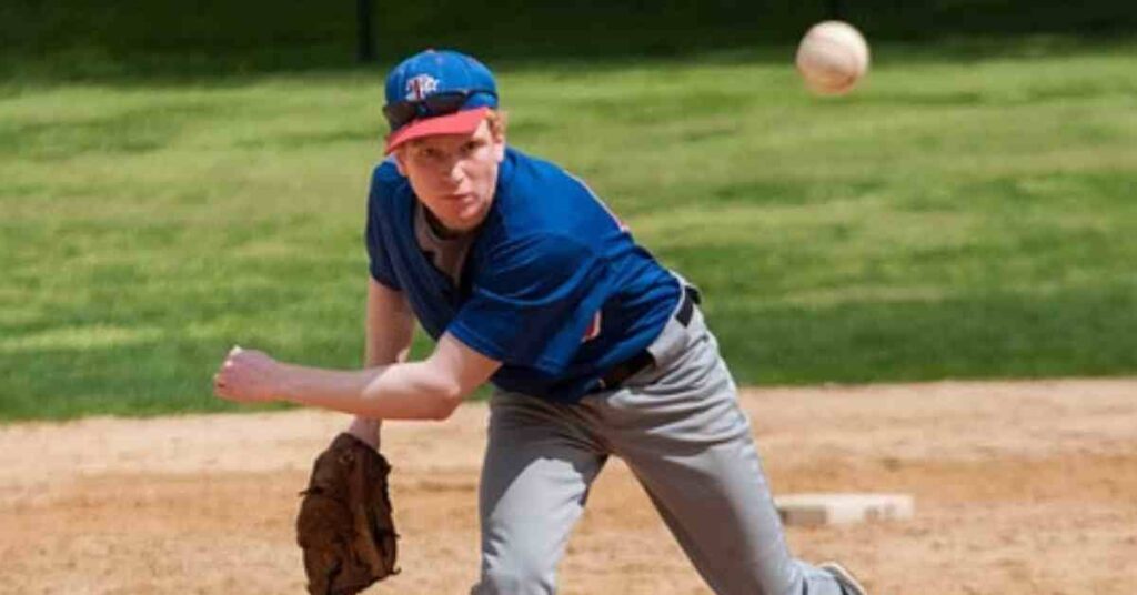
[[(354, 0), (7, 0), (0, 76), (185, 77), (350, 67)], [(796, 41), (839, 13), (874, 41), (1011, 35), (1109, 40), (1137, 31), (1131, 0), (373, 0), (375, 56), (423, 47), (495, 60), (682, 56)], [(961, 51), (994, 51), (997, 43)]]

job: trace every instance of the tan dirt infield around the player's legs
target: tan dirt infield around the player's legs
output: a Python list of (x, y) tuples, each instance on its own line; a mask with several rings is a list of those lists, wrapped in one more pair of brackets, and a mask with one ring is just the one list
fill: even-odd
[[(1137, 379), (748, 390), (777, 494), (908, 491), (912, 520), (791, 528), (873, 595), (1137, 593)], [(368, 593), (464, 593), (478, 571), (485, 407), (390, 423), (402, 573)], [(302, 593), (292, 520), (346, 423), (293, 411), (0, 427), (0, 593)], [(707, 593), (612, 461), (562, 593)]]

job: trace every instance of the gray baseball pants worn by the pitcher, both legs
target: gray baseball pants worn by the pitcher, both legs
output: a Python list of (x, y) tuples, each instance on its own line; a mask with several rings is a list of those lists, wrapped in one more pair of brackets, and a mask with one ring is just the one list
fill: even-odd
[(786, 546), (749, 421), (697, 311), (656, 364), (567, 405), (499, 391), (482, 468), (475, 595), (556, 592), (556, 569), (608, 455), (623, 458), (707, 585), (729, 595), (840, 595)]

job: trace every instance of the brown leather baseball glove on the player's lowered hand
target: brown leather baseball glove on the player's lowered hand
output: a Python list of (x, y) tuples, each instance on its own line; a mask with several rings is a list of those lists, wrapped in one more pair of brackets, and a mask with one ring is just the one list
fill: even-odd
[(310, 595), (355, 595), (398, 573), (390, 472), (383, 455), (346, 432), (316, 458), (296, 519)]

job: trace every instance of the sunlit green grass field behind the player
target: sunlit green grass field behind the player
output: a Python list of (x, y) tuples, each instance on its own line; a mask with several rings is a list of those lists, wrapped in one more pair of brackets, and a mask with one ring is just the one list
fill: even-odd
[[(827, 100), (789, 47), (491, 66), (741, 382), (1137, 372), (1137, 44), (985, 48)], [(234, 342), (357, 365), (381, 75), (0, 83), (0, 419), (227, 408)]]

